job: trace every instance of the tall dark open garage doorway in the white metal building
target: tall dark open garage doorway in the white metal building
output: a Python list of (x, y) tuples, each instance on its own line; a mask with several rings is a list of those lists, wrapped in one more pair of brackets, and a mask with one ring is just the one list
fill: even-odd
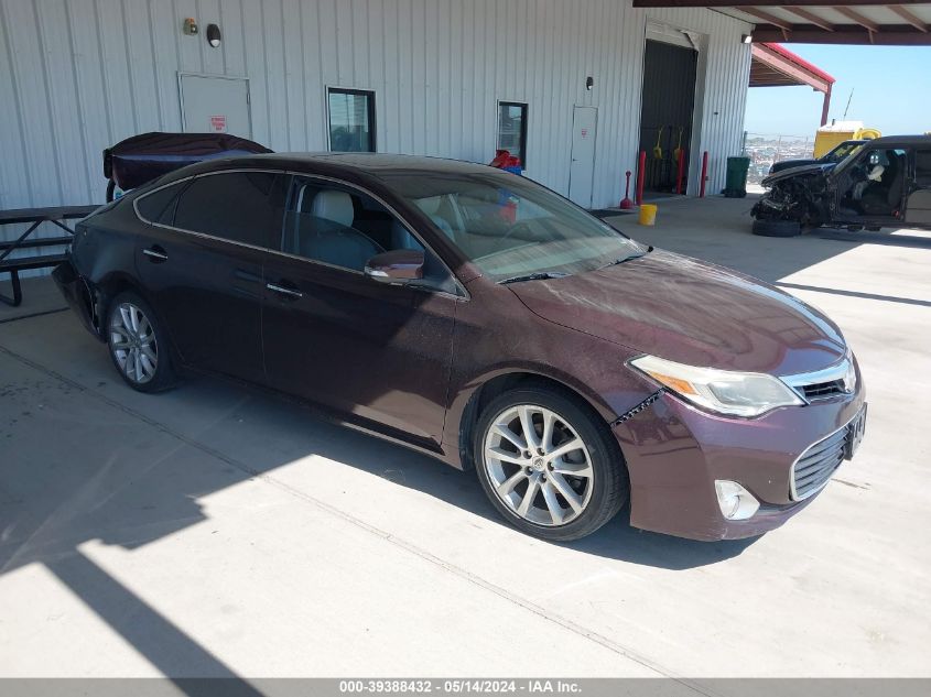
[(643, 56), (640, 111), (640, 150), (647, 153), (643, 188), (648, 192), (674, 192), (682, 160), (684, 194), (692, 154), (689, 148), (699, 52), (684, 32), (667, 30), (660, 41), (649, 37), (657, 33), (648, 30)]

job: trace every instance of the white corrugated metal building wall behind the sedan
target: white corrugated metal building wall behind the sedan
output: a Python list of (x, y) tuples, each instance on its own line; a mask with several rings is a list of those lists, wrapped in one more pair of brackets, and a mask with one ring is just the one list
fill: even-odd
[[(0, 207), (102, 200), (105, 146), (181, 130), (178, 72), (248, 76), (253, 139), (278, 151), (326, 148), (326, 86), (377, 91), (381, 151), (481, 162), (494, 154), (496, 101), (527, 101), (528, 174), (562, 193), (572, 108), (596, 106), (593, 204), (616, 205), (636, 159), (648, 14), (703, 36), (693, 150), (711, 151), (718, 190), (723, 159), (740, 148), (750, 26), (630, 4), (0, 0)], [(220, 48), (183, 35), (186, 17), (218, 23)], [(693, 168), (692, 189), (696, 181)]]

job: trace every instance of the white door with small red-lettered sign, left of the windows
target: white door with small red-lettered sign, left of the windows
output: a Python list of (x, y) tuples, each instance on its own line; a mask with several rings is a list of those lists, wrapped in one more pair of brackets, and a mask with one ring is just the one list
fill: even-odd
[(249, 80), (208, 75), (181, 76), (185, 133), (231, 133), (252, 138)]

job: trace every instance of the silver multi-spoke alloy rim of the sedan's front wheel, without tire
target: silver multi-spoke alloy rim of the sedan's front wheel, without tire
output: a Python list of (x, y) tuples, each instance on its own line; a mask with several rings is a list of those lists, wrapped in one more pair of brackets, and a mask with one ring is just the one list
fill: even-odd
[(519, 404), (498, 414), (484, 456), (496, 495), (526, 521), (565, 525), (588, 505), (595, 477), (588, 448), (552, 410)]

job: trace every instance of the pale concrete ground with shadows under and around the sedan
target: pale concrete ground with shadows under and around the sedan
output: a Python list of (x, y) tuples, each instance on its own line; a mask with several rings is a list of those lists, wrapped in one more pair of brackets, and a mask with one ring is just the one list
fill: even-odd
[(754, 541), (621, 514), (543, 543), (473, 473), (215, 380), (138, 394), (71, 313), (0, 308), (0, 675), (931, 676), (931, 240), (758, 238), (749, 207), (617, 224), (776, 282), (859, 357), (859, 454)]

